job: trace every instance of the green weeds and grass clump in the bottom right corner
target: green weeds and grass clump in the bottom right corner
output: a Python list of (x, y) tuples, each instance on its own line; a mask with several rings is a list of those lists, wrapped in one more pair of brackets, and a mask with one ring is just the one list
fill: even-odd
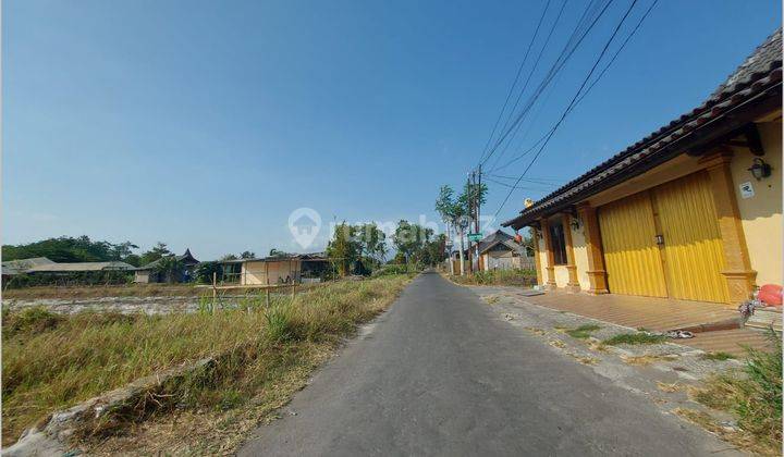
[(711, 408), (731, 411), (763, 454), (780, 455), (782, 446), (782, 341), (770, 331), (769, 351), (747, 348), (742, 369), (710, 379), (696, 399)]

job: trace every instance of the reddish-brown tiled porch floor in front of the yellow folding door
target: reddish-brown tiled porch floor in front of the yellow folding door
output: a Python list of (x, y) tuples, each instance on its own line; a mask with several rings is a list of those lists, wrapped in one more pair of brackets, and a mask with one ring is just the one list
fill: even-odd
[[(726, 309), (726, 305), (706, 301), (616, 294), (568, 294), (563, 291), (549, 291), (544, 295), (525, 299), (535, 305), (654, 332), (738, 319), (737, 311)], [(742, 345), (757, 348), (770, 346), (763, 331), (749, 328), (695, 333), (694, 338), (673, 342), (706, 351), (724, 351), (736, 356), (744, 354)]]

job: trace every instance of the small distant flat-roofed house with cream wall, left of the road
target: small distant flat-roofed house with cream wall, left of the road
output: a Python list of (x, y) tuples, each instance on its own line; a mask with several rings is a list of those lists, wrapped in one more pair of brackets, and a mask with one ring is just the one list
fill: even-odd
[[(220, 263), (224, 271), (223, 281), (240, 285), (318, 282), (330, 268), (330, 261), (323, 252), (223, 260)], [(240, 265), (238, 269), (236, 265)]]

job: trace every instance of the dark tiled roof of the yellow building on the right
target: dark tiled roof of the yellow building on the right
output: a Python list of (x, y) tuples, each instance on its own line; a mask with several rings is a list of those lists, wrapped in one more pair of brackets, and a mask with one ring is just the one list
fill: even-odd
[(665, 152), (672, 152), (671, 149), (678, 146), (678, 140), (709, 127), (728, 111), (759, 100), (760, 97), (780, 99), (781, 94), (774, 94), (772, 89), (781, 88), (781, 79), (782, 29), (779, 28), (702, 104), (560, 187), (502, 225), (525, 226), (548, 211), (558, 211), (600, 192), (599, 184), (611, 181), (630, 166), (657, 159), (665, 160)]

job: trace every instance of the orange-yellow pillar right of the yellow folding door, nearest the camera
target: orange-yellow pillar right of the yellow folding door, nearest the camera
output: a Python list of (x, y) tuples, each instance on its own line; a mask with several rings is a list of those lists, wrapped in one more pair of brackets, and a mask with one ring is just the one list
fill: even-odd
[(707, 165), (706, 170), (713, 190), (713, 206), (716, 211), (724, 251), (724, 271), (721, 273), (727, 282), (730, 305), (736, 305), (751, 298), (757, 272), (751, 270), (746, 236), (740, 223), (735, 185), (730, 170), (732, 157), (731, 150), (723, 149), (703, 157), (700, 159), (700, 163)]

